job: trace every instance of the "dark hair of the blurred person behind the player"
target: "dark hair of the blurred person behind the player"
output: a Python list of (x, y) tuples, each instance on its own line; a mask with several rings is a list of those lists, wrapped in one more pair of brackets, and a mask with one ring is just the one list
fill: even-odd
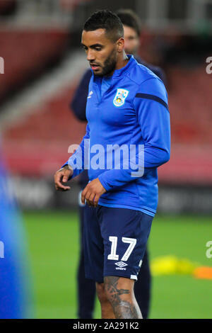
[(117, 11), (117, 16), (119, 16), (124, 26), (136, 30), (138, 36), (141, 34), (141, 20), (134, 11), (131, 9), (119, 9), (119, 11)]

